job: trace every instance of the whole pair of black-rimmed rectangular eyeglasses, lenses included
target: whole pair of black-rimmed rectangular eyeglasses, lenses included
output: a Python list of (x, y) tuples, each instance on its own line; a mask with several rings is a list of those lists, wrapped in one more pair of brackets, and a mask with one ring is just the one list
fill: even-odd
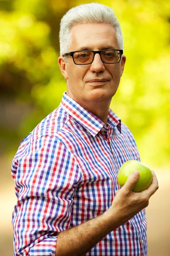
[(96, 53), (99, 53), (100, 58), (105, 64), (115, 64), (119, 63), (123, 50), (108, 49), (102, 51), (76, 51), (76, 52), (67, 52), (63, 54), (64, 57), (72, 57), (74, 64), (76, 65), (88, 65), (94, 61), (94, 56)]

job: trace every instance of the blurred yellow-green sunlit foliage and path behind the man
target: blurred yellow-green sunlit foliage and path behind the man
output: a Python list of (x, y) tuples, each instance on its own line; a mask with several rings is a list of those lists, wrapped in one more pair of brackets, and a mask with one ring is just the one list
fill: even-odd
[[(11, 162), (20, 141), (66, 90), (57, 58), (59, 22), (92, 1), (0, 0), (0, 255), (13, 255)], [(170, 255), (170, 1), (105, 0), (122, 27), (125, 71), (111, 109), (133, 132), (159, 190), (147, 207), (148, 256)]]

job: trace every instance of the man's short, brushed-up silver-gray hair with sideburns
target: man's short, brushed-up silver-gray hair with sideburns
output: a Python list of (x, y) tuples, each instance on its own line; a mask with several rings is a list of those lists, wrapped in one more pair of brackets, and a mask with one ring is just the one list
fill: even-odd
[(87, 3), (71, 8), (62, 17), (59, 30), (60, 56), (69, 52), (71, 47), (71, 28), (84, 23), (108, 23), (113, 26), (118, 46), (124, 50), (121, 27), (113, 10), (100, 3)]

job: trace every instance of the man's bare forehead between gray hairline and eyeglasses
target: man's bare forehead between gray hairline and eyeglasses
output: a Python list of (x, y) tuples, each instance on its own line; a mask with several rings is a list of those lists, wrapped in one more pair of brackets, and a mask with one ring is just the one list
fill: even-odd
[(119, 49), (116, 30), (107, 23), (76, 24), (71, 28), (71, 49), (78, 51), (83, 48), (101, 50), (104, 47)]

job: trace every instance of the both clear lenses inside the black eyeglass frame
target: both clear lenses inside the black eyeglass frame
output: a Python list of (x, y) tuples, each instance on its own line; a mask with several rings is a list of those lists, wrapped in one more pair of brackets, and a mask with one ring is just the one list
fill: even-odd
[[(90, 64), (93, 61), (94, 52), (74, 52), (73, 58), (76, 64)], [(119, 62), (121, 54), (117, 50), (106, 50), (101, 52), (101, 58), (103, 62), (113, 64)]]

